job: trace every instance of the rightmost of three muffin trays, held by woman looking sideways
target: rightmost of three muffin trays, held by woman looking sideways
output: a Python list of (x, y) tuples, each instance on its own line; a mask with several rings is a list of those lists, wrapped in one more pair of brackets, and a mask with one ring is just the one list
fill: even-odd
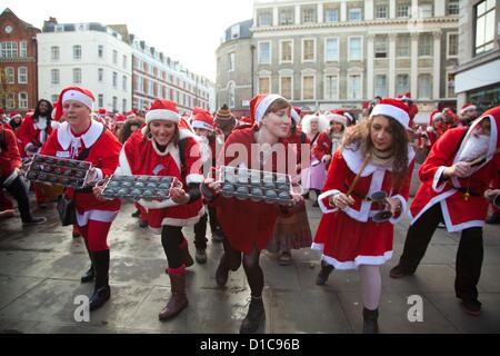
[(237, 167), (220, 167), (221, 195), (226, 198), (289, 205), (292, 186), (289, 175)]

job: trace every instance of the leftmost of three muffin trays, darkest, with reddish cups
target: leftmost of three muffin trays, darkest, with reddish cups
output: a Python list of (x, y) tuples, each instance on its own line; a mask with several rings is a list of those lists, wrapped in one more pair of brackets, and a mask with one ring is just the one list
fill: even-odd
[(28, 180), (50, 182), (54, 186), (83, 188), (92, 164), (37, 154), (28, 165)]

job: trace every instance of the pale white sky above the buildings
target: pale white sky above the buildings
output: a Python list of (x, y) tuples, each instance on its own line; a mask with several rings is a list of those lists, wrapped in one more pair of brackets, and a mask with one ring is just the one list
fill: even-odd
[(126, 23), (129, 32), (216, 81), (216, 50), (226, 29), (252, 18), (253, 0), (1, 0), (21, 20), (41, 29), (59, 23)]

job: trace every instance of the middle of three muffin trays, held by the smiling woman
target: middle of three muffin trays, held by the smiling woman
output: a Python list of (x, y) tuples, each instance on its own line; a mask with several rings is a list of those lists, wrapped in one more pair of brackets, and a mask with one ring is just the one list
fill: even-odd
[(108, 199), (166, 200), (174, 186), (182, 186), (176, 177), (112, 175), (103, 186), (102, 196)]

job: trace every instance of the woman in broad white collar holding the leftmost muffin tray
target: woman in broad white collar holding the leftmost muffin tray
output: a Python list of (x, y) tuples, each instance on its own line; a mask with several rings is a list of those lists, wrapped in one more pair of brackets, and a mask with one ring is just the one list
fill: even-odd
[[(93, 95), (86, 89), (69, 87), (61, 91), (57, 105), (56, 120), (62, 115), (66, 121), (50, 135), (40, 154), (66, 159), (79, 159), (92, 164), (88, 181), (112, 175), (118, 166), (121, 144), (102, 123), (91, 120)], [(84, 152), (87, 150), (87, 154)], [(87, 156), (86, 158), (79, 158)], [(107, 244), (111, 222), (120, 201), (98, 200), (91, 190), (64, 190), (74, 199), (77, 224), (90, 256), (91, 267), (81, 277), (82, 283), (96, 279), (90, 298), (90, 310), (101, 307), (111, 296), (109, 287), (109, 247)]]

